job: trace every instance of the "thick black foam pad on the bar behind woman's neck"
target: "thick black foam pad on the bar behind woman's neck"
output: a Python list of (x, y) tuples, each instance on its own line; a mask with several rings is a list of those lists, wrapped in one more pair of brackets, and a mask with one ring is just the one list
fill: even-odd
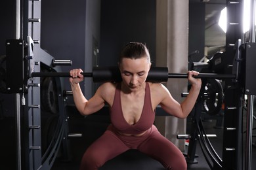
[[(118, 67), (94, 67), (93, 82), (121, 82), (121, 73)], [(147, 82), (167, 82), (167, 67), (151, 67), (146, 78)]]

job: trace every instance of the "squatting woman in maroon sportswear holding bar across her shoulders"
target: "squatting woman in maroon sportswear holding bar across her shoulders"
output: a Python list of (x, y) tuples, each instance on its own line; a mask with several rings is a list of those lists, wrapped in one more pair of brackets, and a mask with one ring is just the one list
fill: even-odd
[(150, 54), (140, 42), (130, 42), (123, 48), (119, 59), (122, 81), (102, 84), (95, 95), (87, 100), (79, 82), (83, 80), (81, 69), (70, 71), (70, 84), (75, 106), (83, 115), (93, 114), (105, 104), (110, 107), (110, 126), (89, 148), (81, 160), (80, 169), (98, 169), (117, 155), (137, 149), (160, 161), (166, 169), (186, 169), (182, 152), (163, 137), (154, 126), (155, 109), (162, 109), (178, 118), (186, 118), (200, 92), (201, 80), (193, 78), (198, 72), (188, 71), (192, 85), (189, 95), (180, 104), (160, 83), (146, 82), (150, 70)]

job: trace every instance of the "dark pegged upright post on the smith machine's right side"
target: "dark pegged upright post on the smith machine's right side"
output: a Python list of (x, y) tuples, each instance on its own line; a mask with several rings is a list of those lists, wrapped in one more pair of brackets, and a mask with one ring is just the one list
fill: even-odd
[[(226, 1), (226, 73), (232, 73), (234, 66), (235, 48), (242, 39), (242, 0)], [(239, 46), (238, 46), (239, 48)], [(237, 54), (239, 56), (239, 54)], [(242, 169), (242, 101), (244, 101), (240, 84), (237, 80), (227, 80), (224, 86), (224, 127), (223, 127), (223, 168)]]

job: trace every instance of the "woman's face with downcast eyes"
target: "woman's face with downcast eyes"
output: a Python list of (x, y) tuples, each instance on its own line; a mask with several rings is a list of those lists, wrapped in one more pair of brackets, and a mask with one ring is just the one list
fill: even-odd
[(136, 91), (146, 81), (151, 63), (148, 58), (139, 59), (123, 58), (119, 63), (119, 69), (123, 83), (129, 90)]

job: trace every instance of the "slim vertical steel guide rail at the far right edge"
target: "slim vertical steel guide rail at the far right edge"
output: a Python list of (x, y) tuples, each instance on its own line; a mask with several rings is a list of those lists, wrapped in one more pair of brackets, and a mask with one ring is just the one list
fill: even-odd
[[(251, 0), (250, 8), (250, 29), (249, 41), (255, 42), (255, 3), (256, 0)], [(253, 95), (248, 95), (247, 104), (247, 126), (246, 126), (246, 150), (245, 150), (245, 169), (251, 170), (251, 150), (252, 150), (252, 136), (253, 136)]]

